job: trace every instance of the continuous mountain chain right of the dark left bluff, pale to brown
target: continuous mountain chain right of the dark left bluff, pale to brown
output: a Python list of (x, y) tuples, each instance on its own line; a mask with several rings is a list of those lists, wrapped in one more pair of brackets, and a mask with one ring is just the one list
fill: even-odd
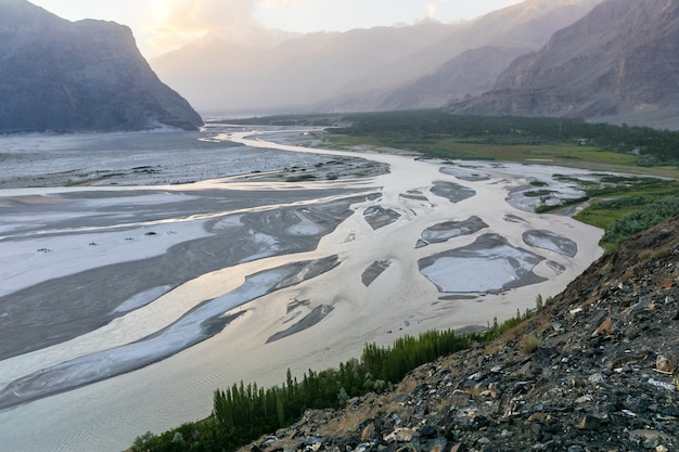
[(204, 112), (445, 107), (679, 129), (678, 12), (671, 0), (526, 0), (460, 24), (209, 35), (151, 64)]

